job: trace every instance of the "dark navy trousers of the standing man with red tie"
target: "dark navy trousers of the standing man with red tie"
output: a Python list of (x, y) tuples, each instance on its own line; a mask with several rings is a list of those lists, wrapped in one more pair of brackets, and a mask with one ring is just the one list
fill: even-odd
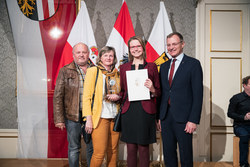
[(163, 154), (166, 167), (178, 167), (177, 143), (181, 167), (193, 167), (192, 134), (184, 131), (186, 123), (176, 122), (169, 107), (166, 118), (161, 120)]

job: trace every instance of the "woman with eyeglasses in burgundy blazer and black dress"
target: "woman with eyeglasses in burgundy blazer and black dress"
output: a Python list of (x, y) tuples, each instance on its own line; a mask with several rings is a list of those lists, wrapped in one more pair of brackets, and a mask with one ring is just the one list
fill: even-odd
[[(161, 93), (157, 66), (146, 61), (143, 40), (134, 36), (128, 41), (129, 62), (120, 67), (122, 132), (121, 140), (127, 144), (127, 165), (137, 167), (149, 166), (149, 144), (156, 142), (156, 97)], [(144, 86), (150, 91), (149, 100), (129, 101), (126, 71), (147, 69), (148, 79)]]

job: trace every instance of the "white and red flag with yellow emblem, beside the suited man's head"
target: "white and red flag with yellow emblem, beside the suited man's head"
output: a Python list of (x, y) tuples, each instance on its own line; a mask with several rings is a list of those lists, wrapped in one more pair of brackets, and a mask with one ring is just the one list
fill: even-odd
[(160, 10), (146, 44), (148, 62), (155, 62), (159, 66), (168, 60), (165, 54), (167, 47), (166, 37), (170, 33), (172, 33), (172, 27), (168, 14), (164, 2), (160, 2)]

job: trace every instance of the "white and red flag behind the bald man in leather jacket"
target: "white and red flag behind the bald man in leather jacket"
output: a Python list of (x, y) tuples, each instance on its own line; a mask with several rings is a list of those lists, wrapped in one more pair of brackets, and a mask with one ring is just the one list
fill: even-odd
[(90, 50), (90, 60), (92, 63), (96, 63), (96, 58), (98, 56), (98, 50), (96, 46), (95, 36), (92, 29), (91, 21), (89, 18), (88, 9), (84, 1), (81, 1), (81, 9), (76, 17), (75, 23), (71, 29), (63, 53), (60, 59), (59, 66), (57, 68), (56, 78), (59, 73), (60, 68), (64, 65), (69, 64), (73, 61), (72, 48), (75, 44), (82, 42), (88, 45)]

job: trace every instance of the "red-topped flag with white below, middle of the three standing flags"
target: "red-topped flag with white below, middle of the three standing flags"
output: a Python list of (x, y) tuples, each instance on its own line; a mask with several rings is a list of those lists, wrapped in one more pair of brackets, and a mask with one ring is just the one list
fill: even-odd
[(123, 56), (128, 55), (128, 40), (132, 36), (135, 36), (135, 32), (127, 3), (124, 1), (106, 44), (115, 48), (118, 62), (117, 67)]

